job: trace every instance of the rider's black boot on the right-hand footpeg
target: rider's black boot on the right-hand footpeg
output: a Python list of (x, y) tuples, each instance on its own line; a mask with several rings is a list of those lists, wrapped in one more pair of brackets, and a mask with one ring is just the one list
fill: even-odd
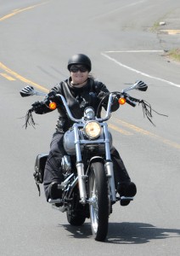
[(131, 199), (126, 199), (126, 197), (133, 197), (137, 193), (137, 188), (135, 183), (132, 182), (121, 182), (118, 183), (117, 192), (121, 196), (120, 204), (122, 207), (126, 207)]

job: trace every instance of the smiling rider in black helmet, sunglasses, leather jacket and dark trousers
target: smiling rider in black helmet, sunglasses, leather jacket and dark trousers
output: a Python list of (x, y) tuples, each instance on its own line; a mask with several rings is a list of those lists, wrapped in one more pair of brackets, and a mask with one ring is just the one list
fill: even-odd
[[(91, 60), (87, 55), (76, 54), (70, 57), (68, 61), (68, 70), (70, 71), (70, 78), (61, 81), (55, 85), (49, 92), (48, 97), (53, 97), (55, 94), (61, 94), (70, 108), (70, 112), (76, 119), (81, 119), (83, 110), (87, 106), (94, 108), (95, 112), (98, 110), (98, 103), (110, 94), (106, 86), (99, 82), (89, 74), (92, 69)], [(108, 96), (106, 97), (108, 99)], [(47, 101), (35, 102), (32, 104), (35, 113), (48, 113), (51, 110), (47, 107)], [(61, 159), (65, 155), (65, 148), (63, 146), (63, 137), (65, 131), (68, 131), (73, 122), (67, 117), (63, 104), (58, 106), (59, 119), (56, 125), (56, 131), (53, 133), (53, 139), (50, 144), (50, 152), (46, 162), (43, 185), (45, 195), (48, 199), (58, 199), (60, 197), (58, 184), (63, 181), (63, 174), (61, 172)], [(103, 103), (103, 107), (107, 108), (107, 100)], [(117, 99), (114, 99), (111, 106), (111, 111), (119, 108)], [(100, 115), (101, 108), (99, 109)], [(136, 185), (131, 182), (127, 173), (127, 169), (121, 160), (120, 154), (115, 147), (110, 150), (111, 158), (114, 165), (115, 173), (115, 188), (121, 196), (136, 195)], [(127, 206), (130, 201), (121, 201), (122, 206)]]

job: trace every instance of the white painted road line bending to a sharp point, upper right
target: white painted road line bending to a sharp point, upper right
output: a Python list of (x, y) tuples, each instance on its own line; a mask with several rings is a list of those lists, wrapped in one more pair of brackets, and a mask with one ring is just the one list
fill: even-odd
[[(121, 63), (120, 61), (116, 61), (114, 58), (112, 58), (112, 57), (110, 57), (109, 55), (107, 55), (106, 53), (112, 53), (112, 52), (121, 52), (121, 53), (123, 53), (123, 52), (130, 52), (130, 51), (126, 51), (126, 50), (124, 50), (124, 51), (105, 51), (105, 52), (102, 52), (101, 53), (101, 55), (103, 55), (104, 57), (106, 57), (107, 59), (109, 59), (110, 61), (114, 61), (117, 65), (119, 65), (119, 66), (121, 66), (121, 67), (125, 67), (125, 68), (127, 68), (128, 70), (131, 70), (132, 72), (135, 72), (135, 73), (139, 73), (139, 74), (141, 74), (141, 75), (143, 75), (143, 76), (145, 76), (145, 77), (148, 77), (148, 78), (150, 78), (150, 79), (156, 79), (156, 80), (159, 80), (159, 81), (161, 81), (161, 82), (165, 82), (166, 84), (171, 84), (171, 85), (173, 85), (173, 86), (176, 86), (176, 87), (179, 87), (180, 88), (180, 84), (175, 84), (175, 83), (172, 83), (171, 81), (168, 81), (168, 80), (166, 80), (166, 79), (160, 79), (160, 78), (157, 78), (157, 77), (154, 77), (154, 76), (151, 76), (151, 75), (149, 75), (148, 73), (143, 73), (143, 72), (141, 72), (141, 71), (139, 71), (139, 70), (137, 70), (137, 69), (135, 69), (135, 68), (132, 68), (132, 67), (129, 67), (129, 66), (127, 66), (127, 65), (124, 65), (123, 63)], [(134, 51), (131, 51), (131, 52), (145, 52), (145, 50), (143, 50), (143, 51), (141, 51), (141, 50), (134, 50)], [(153, 52), (153, 50), (151, 50), (151, 51), (148, 51), (148, 52)]]

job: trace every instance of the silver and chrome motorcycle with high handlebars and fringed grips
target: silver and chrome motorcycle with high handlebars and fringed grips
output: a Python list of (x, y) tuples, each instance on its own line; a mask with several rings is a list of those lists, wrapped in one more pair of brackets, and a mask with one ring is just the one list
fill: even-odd
[[(150, 120), (152, 114), (149, 103), (127, 94), (129, 90), (145, 91), (147, 89), (147, 84), (138, 81), (121, 92), (111, 92), (108, 95), (108, 105), (104, 118), (98, 118), (93, 108), (86, 108), (82, 119), (76, 119), (70, 113), (65, 97), (56, 95), (56, 98), (59, 97), (60, 102), (63, 103), (66, 113), (74, 125), (65, 132), (64, 136), (66, 154), (62, 159), (61, 166), (65, 179), (59, 184), (59, 189), (63, 191), (62, 198), (49, 199), (48, 202), (60, 212), (66, 212), (67, 220), (71, 225), (82, 225), (86, 218), (90, 218), (93, 237), (96, 241), (104, 241), (107, 236), (109, 217), (113, 212), (112, 206), (115, 202), (133, 200), (133, 197), (116, 195), (113, 163), (110, 155), (112, 136), (106, 122), (111, 116), (111, 104), (114, 97), (120, 104), (127, 102), (132, 107), (141, 103), (143, 113)], [(29, 85), (20, 90), (20, 95), (47, 96)], [(104, 102), (104, 99), (99, 105)], [(49, 108), (56, 108), (56, 103), (52, 99)], [(33, 110), (31, 108), (28, 112), (26, 126), (28, 124), (35, 125), (31, 115)], [(47, 158), (48, 154), (38, 154), (35, 163), (34, 178), (39, 192), (39, 184), (43, 183), (43, 172)]]

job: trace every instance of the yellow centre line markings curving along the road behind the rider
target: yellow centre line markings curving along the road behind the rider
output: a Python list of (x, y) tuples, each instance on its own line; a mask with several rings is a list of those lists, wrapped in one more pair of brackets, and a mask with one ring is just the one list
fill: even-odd
[[(0, 18), (0, 21), (6, 20), (6, 19), (8, 19), (8, 18), (10, 18), (10, 17), (12, 17), (14, 15), (20, 14), (21, 12), (24, 12), (26, 10), (33, 9), (33, 8), (39, 6), (39, 5), (42, 5), (42, 4), (44, 4), (44, 3), (39, 3), (37, 5), (33, 5), (33, 6), (25, 8), (25, 9), (16, 9), (16, 10), (14, 10), (13, 13), (5, 15), (2, 18)], [(35, 86), (39, 90), (43, 90), (45, 92), (48, 92), (48, 89), (46, 89), (42, 85), (36, 84), (36, 83), (32, 82), (29, 79), (25, 79), (20, 74), (15, 73), (13, 70), (11, 70), (10, 68), (6, 67), (2, 62), (0, 62), (0, 68), (3, 70), (3, 72), (5, 72), (5, 73), (0, 73), (5, 79), (8, 79), (10, 81), (13, 81), (15, 79), (19, 79), (20, 81), (24, 82), (25, 84), (30, 84), (32, 86)], [(125, 127), (126, 130), (123, 130), (119, 126), (116, 126), (116, 125), (113, 125), (113, 124), (109, 124), (109, 127), (111, 129), (117, 131), (117, 132), (120, 132), (123, 135), (130, 136), (130, 135), (133, 135), (132, 131), (135, 132), (135, 133), (139, 132), (139, 133), (141, 133), (143, 135), (152, 137), (155, 140), (160, 141), (160, 143), (165, 143), (165, 144), (171, 146), (172, 148), (180, 149), (180, 144), (173, 143), (170, 140), (167, 140), (167, 139), (165, 139), (163, 137), (159, 137), (159, 136), (157, 136), (157, 135), (155, 135), (155, 134), (153, 134), (153, 133), (151, 133), (149, 131), (145, 131), (145, 130), (139, 128), (138, 126), (129, 124), (129, 123), (127, 123), (127, 122), (125, 122), (123, 120), (120, 120), (120, 119), (115, 119), (115, 123), (119, 123), (119, 125)], [(127, 131), (127, 129), (129, 129), (130, 131)]]

